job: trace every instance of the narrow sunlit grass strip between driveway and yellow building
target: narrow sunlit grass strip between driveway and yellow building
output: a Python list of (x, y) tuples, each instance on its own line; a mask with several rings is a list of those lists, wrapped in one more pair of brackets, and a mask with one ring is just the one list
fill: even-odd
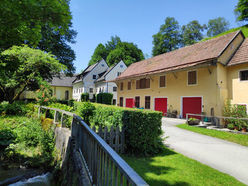
[(187, 124), (177, 125), (177, 127), (181, 129), (186, 129), (192, 132), (204, 134), (207, 136), (212, 136), (215, 138), (220, 138), (220, 139), (227, 140), (230, 142), (238, 143), (243, 146), (248, 146), (248, 135), (234, 134), (234, 133), (225, 132), (225, 131), (217, 131), (217, 130), (211, 130), (211, 129), (206, 129), (206, 128), (199, 128), (199, 127), (189, 126)]

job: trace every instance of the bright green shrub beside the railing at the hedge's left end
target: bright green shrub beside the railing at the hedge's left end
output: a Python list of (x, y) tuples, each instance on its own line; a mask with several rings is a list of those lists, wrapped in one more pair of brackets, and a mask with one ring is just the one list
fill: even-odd
[(90, 125), (90, 119), (93, 117), (95, 106), (90, 102), (83, 102), (77, 108), (80, 116), (82, 116), (85, 123)]

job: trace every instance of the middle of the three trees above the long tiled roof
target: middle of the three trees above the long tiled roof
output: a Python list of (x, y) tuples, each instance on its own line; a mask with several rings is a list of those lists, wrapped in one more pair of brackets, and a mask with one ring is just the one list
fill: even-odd
[(203, 39), (202, 31), (205, 29), (205, 25), (201, 25), (198, 21), (194, 20), (187, 25), (182, 26), (182, 44), (192, 45)]

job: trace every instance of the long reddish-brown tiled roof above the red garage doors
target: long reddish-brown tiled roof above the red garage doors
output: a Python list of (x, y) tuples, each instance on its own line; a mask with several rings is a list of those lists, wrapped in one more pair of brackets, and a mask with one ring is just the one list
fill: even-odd
[(232, 32), (133, 63), (116, 80), (186, 68), (217, 59), (240, 32)]

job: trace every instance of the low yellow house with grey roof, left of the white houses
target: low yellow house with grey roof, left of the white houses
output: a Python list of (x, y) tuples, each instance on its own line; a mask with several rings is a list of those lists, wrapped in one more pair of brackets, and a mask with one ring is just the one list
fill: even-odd
[[(52, 88), (53, 96), (59, 100), (72, 99), (72, 81), (75, 77), (68, 77), (61, 75), (60, 77), (53, 77), (50, 86)], [(24, 91), (20, 95), (20, 99), (34, 99), (35, 93), (33, 91)]]

